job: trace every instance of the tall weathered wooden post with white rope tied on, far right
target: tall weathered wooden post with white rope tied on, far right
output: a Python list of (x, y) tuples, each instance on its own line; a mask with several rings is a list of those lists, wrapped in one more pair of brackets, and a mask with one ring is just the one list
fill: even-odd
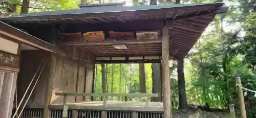
[(241, 84), (241, 78), (236, 77), (237, 84), (238, 84), (238, 96), (239, 96), (239, 105), (240, 105), (240, 114), (241, 118), (246, 118), (246, 111), (245, 111), (245, 103), (244, 103), (244, 93)]

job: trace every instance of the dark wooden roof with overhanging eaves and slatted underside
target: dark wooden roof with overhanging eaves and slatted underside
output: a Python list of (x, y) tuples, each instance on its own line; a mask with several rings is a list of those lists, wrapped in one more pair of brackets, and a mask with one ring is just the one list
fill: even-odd
[[(40, 26), (54, 26), (60, 32), (89, 32), (89, 31), (146, 31), (160, 30), (163, 21), (168, 20), (170, 34), (170, 56), (183, 59), (202, 32), (216, 14), (227, 12), (223, 3), (208, 4), (172, 4), (157, 6), (90, 6), (77, 10), (29, 13), (26, 15), (2, 17), (0, 20), (28, 30), (39, 29)], [(34, 28), (34, 29), (33, 29)], [(161, 45), (151, 48), (159, 42), (126, 43), (127, 46), (136, 44), (134, 48), (118, 53), (109, 48), (112, 42), (105, 44), (84, 45), (86, 42), (70, 42), (69, 45), (81, 45), (96, 56), (122, 55), (161, 55)], [(67, 43), (66, 43), (67, 44)], [(141, 50), (138, 50), (138, 45)], [(144, 45), (144, 46), (143, 46)], [(132, 46), (132, 47), (133, 47)], [(137, 47), (137, 48), (136, 48)], [(134, 50), (134, 51), (133, 51)], [(137, 51), (135, 51), (137, 50)], [(139, 51), (139, 52), (138, 52)], [(110, 53), (105, 53), (110, 52)]]

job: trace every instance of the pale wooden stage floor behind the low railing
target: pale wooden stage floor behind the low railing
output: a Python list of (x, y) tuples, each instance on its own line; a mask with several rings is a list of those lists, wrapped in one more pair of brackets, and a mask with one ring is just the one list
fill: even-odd
[[(163, 111), (162, 102), (123, 102), (123, 101), (108, 101), (103, 105), (102, 101), (67, 103), (68, 109), (77, 110), (119, 110), (119, 111)], [(63, 109), (62, 104), (51, 104), (50, 109)]]

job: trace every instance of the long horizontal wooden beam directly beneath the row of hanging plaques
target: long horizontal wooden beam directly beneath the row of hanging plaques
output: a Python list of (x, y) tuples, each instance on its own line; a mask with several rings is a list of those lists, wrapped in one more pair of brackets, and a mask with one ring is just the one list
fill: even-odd
[(106, 41), (69, 41), (69, 42), (64, 42), (62, 44), (65, 45), (94, 45), (94, 44), (118, 44), (118, 43), (154, 43), (154, 42), (162, 42), (161, 37), (158, 39), (148, 39), (148, 40), (106, 40)]

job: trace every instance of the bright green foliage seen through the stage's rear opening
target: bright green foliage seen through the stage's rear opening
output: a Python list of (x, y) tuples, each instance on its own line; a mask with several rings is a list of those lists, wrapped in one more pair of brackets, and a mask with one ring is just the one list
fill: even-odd
[[(102, 93), (101, 66), (96, 64), (95, 85), (96, 93)], [(139, 92), (139, 65), (138, 64), (105, 64), (108, 92), (138, 93)], [(96, 74), (97, 73), (97, 74)], [(145, 64), (146, 92), (152, 93), (151, 64)], [(113, 82), (113, 84), (112, 84)], [(112, 86), (113, 85), (113, 86)]]

